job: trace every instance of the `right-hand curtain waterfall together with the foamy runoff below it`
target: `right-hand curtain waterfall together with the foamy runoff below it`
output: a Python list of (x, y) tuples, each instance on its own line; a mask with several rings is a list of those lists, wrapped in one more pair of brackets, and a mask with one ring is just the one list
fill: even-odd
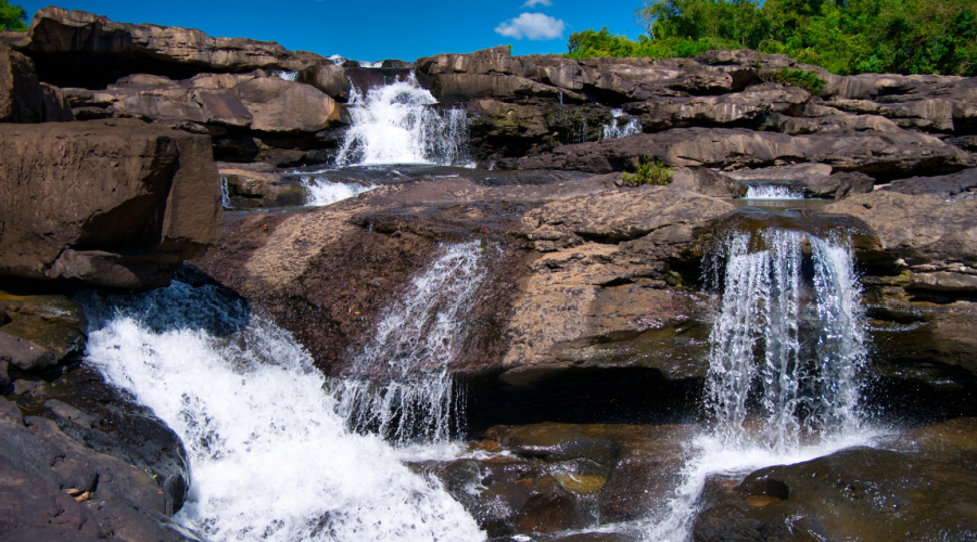
[(859, 410), (866, 335), (851, 249), (772, 229), (731, 234), (722, 256), (706, 389), (712, 429), (693, 442), (664, 515), (649, 520), (656, 542), (690, 538), (710, 477), (738, 479), (875, 436)]

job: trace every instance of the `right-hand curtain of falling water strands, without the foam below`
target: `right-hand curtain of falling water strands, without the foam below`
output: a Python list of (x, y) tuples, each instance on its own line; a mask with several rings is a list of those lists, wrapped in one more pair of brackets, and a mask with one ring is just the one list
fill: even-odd
[[(851, 250), (773, 229), (732, 234), (725, 257), (707, 377), (718, 434), (728, 446), (786, 450), (802, 433), (858, 429), (866, 337)], [(751, 416), (761, 425), (756, 430), (747, 427)]]

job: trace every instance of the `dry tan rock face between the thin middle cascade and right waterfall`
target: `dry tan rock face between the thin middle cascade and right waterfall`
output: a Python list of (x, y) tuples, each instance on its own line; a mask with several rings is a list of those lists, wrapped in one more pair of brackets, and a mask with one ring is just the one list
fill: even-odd
[(665, 285), (678, 280), (682, 261), (696, 259), (698, 232), (734, 209), (671, 186), (645, 186), (528, 212), (522, 232), (544, 254), (519, 283), (502, 378), (528, 385), (594, 366), (705, 375), (705, 307)]

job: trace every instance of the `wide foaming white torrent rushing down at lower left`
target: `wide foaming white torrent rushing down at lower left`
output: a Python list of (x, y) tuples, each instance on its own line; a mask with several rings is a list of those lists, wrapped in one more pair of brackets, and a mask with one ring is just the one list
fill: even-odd
[(182, 439), (192, 485), (177, 520), (214, 541), (484, 539), (440, 483), (345, 429), (288, 333), (257, 317), (227, 337), (174, 326), (181, 305), (219, 305), (186, 301), (193, 289), (174, 283), (109, 317), (86, 356)]

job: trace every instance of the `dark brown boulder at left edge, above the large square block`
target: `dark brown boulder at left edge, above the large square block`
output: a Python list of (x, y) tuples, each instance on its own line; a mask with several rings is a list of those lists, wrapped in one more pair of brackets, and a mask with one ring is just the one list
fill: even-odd
[(40, 82), (34, 63), (0, 43), (0, 122), (74, 120), (61, 89)]

